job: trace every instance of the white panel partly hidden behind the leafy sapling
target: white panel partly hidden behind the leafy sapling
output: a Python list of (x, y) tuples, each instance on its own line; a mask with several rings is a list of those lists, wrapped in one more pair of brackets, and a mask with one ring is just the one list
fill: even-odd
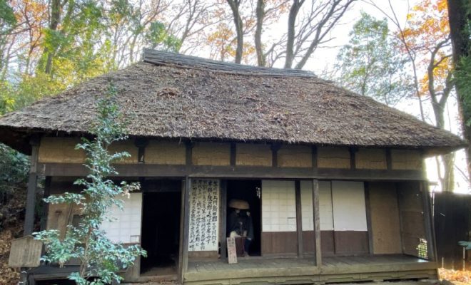
[(142, 193), (131, 193), (129, 197), (121, 197), (123, 209), (111, 207), (107, 217), (112, 221), (103, 221), (100, 229), (112, 242), (141, 242)]

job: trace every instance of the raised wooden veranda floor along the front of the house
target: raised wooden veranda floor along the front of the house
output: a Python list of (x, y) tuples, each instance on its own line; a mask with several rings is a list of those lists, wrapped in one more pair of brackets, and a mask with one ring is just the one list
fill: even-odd
[(190, 261), (185, 284), (325, 284), (395, 279), (437, 279), (435, 262), (403, 255), (313, 259)]

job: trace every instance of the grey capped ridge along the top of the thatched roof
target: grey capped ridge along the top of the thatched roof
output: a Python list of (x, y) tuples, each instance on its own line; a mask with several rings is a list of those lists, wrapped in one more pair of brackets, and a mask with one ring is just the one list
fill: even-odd
[(187, 56), (181, 53), (167, 51), (156, 51), (151, 48), (143, 49), (143, 61), (159, 66), (181, 66), (198, 69), (211, 69), (225, 73), (249, 74), (260, 76), (283, 76), (283, 77), (305, 77), (317, 78), (313, 72), (300, 69), (272, 68), (261, 66), (248, 66), (239, 63), (215, 61), (213, 59), (198, 56)]

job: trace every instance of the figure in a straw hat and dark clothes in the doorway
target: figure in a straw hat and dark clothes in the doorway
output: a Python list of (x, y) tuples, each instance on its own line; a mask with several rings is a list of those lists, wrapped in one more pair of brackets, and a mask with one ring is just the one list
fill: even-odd
[(233, 210), (228, 216), (229, 237), (243, 237), (243, 256), (248, 257), (250, 244), (253, 240), (253, 223), (250, 217), (248, 202), (240, 199), (231, 199), (229, 207)]

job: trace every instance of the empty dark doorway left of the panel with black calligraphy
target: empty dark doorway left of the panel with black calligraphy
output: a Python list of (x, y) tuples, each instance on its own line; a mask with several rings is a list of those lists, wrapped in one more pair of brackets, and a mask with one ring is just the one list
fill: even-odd
[(141, 275), (177, 274), (181, 181), (155, 182), (143, 191), (142, 247), (147, 257), (141, 258)]

